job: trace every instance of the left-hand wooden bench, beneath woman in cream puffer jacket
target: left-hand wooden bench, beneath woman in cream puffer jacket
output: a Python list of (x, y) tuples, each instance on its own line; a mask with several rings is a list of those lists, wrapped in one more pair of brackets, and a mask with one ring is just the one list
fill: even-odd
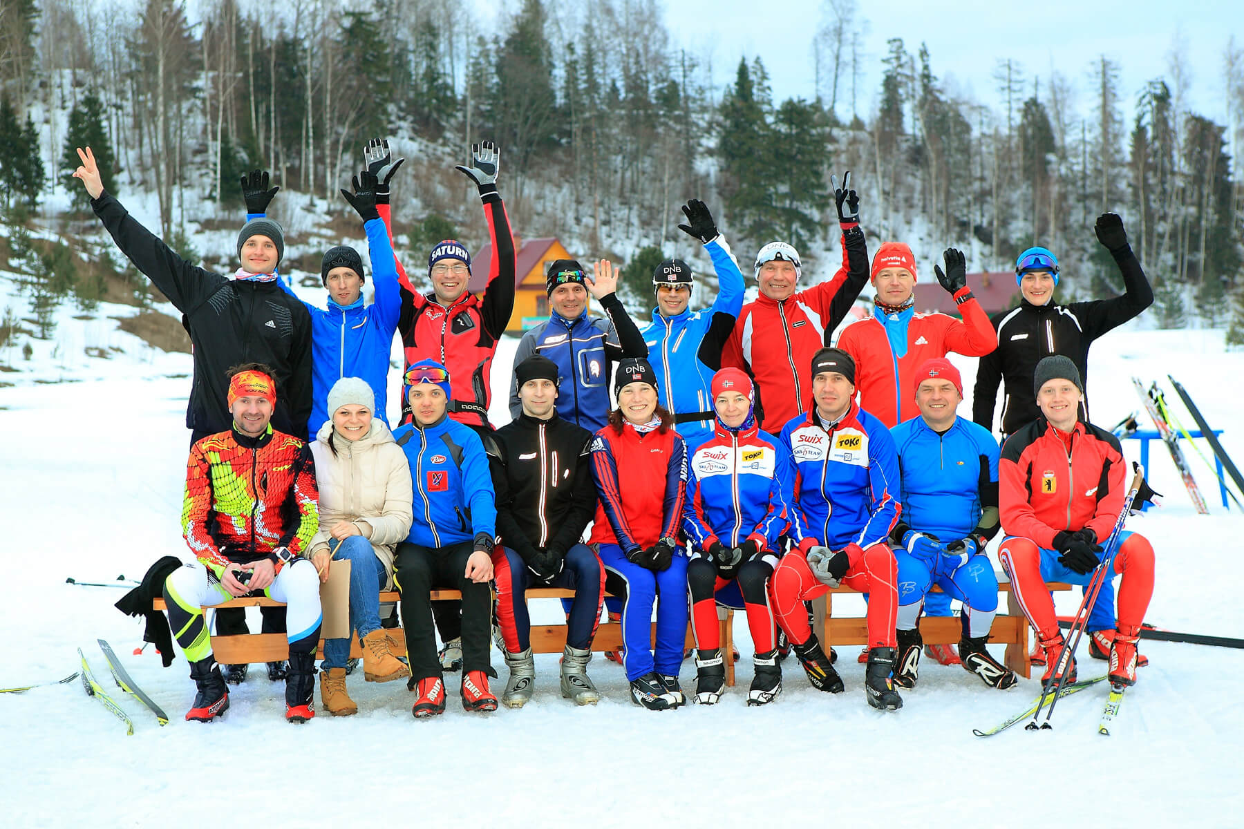
[[(566, 588), (529, 588), (527, 600), (530, 599), (572, 599), (575, 598), (575, 592)], [(462, 593), (458, 590), (432, 590), (432, 600), (438, 599), (460, 599)], [(397, 590), (382, 590), (379, 595), (381, 602), (398, 602), (401, 594)], [(156, 599), (154, 607), (157, 610), (164, 610), (164, 599)], [(243, 597), (240, 599), (230, 599), (221, 604), (213, 605), (210, 609), (220, 608), (262, 608), (262, 607), (282, 607), (281, 602), (269, 599), (267, 597)], [(734, 610), (730, 608), (720, 608), (718, 615), (720, 616), (722, 624), (722, 653), (725, 655), (725, 681), (728, 685), (734, 685)], [(393, 653), (398, 656), (406, 654), (406, 638), (402, 635), (401, 628), (391, 628), (393, 636), (397, 638), (397, 646)], [(656, 624), (653, 624), (653, 635), (656, 635)], [(958, 641), (958, 640), (955, 640)], [(690, 625), (687, 628), (687, 648), (694, 648), (695, 640), (692, 635)], [(622, 625), (611, 621), (602, 621), (596, 629), (596, 638), (592, 640), (593, 651), (607, 651), (617, 650), (622, 646)], [(566, 648), (566, 625), (531, 625), (531, 650), (536, 654), (560, 654)], [(289, 641), (285, 634), (238, 634), (234, 636), (211, 636), (211, 650), (215, 654), (216, 661), (224, 665), (245, 664), (245, 662), (275, 662), (279, 660), (289, 659)], [(320, 653), (323, 653), (323, 640), (320, 640)], [(362, 646), (358, 644), (358, 636), (353, 636), (353, 641), (350, 645), (350, 655), (352, 657), (362, 656)]]

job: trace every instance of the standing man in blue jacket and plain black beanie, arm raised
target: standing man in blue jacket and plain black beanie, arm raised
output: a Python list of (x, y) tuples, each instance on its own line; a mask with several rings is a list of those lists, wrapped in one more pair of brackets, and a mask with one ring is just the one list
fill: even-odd
[[(259, 170), (243, 181), (248, 221), (264, 216), (276, 193), (276, 188), (262, 186), (266, 183), (267, 174)], [(328, 420), (328, 392), (343, 377), (360, 377), (372, 387), (376, 395), (372, 415), (388, 425), (389, 354), (402, 313), (402, 293), (393, 247), (376, 209), (377, 179), (363, 170), (353, 184), (355, 193), (342, 190), (341, 194), (363, 220), (376, 297), (372, 305), (363, 305), (366, 277), (358, 251), (346, 245), (328, 249), (320, 266), (320, 278), (328, 290), (328, 307), (302, 303), (311, 314), (311, 418), (306, 424), (310, 440), (315, 440), (320, 426)], [(277, 282), (294, 295), (285, 280)]]

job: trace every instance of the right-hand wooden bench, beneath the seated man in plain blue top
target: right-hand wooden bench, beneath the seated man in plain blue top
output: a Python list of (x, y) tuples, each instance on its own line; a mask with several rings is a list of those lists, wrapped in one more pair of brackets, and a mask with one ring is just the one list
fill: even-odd
[[(1024, 611), (1019, 608), (1011, 593), (1010, 582), (999, 574), (998, 592), (1006, 594), (1006, 613), (998, 609), (994, 616), (994, 626), (989, 631), (989, 641), (1006, 645), (1005, 664), (1024, 679), (1029, 676), (1028, 664), (1028, 631), (1029, 624)], [(1062, 582), (1046, 582), (1050, 590), (1070, 590), (1071, 585)], [(817, 615), (819, 638), (825, 653), (830, 653), (831, 645), (867, 645), (868, 624), (863, 616), (835, 616), (833, 594), (858, 593), (848, 587), (838, 587), (825, 594), (825, 599), (817, 600), (814, 610)], [(933, 585), (931, 593), (942, 593), (942, 588)], [(921, 638), (926, 645), (958, 645), (963, 635), (963, 626), (958, 616), (921, 616)]]

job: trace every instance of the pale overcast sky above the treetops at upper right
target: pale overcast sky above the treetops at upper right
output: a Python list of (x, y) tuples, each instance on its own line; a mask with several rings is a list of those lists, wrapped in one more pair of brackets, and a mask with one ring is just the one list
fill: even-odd
[[(1244, 46), (1242, 0), (960, 0), (953, 5), (861, 0), (856, 14), (870, 24), (858, 93), (861, 116), (876, 106), (886, 41), (902, 37), (913, 55), (921, 41), (927, 42), (933, 73), (995, 111), (1000, 98), (993, 72), (999, 60), (1013, 57), (1023, 63), (1029, 91), (1034, 76), (1046, 78), (1056, 68), (1075, 82), (1076, 102), (1084, 108), (1092, 97), (1090, 63), (1106, 55), (1118, 63), (1118, 93), (1130, 122), (1146, 81), (1171, 77), (1167, 53), (1178, 32), (1191, 76), (1189, 106), (1223, 123), (1223, 50), (1233, 32), (1237, 47)], [(810, 50), (820, 24), (819, 0), (667, 2), (664, 15), (675, 41), (692, 51), (712, 52), (718, 92), (733, 80), (740, 55), (759, 55), (776, 99), (815, 96)], [(840, 114), (850, 116), (850, 87), (840, 88)]]

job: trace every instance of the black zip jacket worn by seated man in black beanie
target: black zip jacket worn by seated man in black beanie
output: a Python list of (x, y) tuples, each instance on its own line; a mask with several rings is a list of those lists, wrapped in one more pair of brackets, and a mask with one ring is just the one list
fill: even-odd
[(592, 433), (556, 413), (520, 414), (498, 429), (489, 447), (501, 543), (530, 562), (537, 547), (565, 554), (596, 513)]

